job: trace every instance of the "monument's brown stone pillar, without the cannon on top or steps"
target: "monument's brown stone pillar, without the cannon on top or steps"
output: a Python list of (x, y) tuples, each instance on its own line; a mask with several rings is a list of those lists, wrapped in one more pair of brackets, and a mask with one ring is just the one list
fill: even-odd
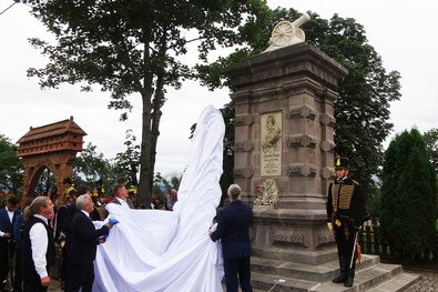
[(302, 42), (225, 73), (235, 101), (234, 181), (254, 209), (253, 254), (310, 264), (336, 260), (325, 201), (334, 161), (333, 104), (347, 70)]

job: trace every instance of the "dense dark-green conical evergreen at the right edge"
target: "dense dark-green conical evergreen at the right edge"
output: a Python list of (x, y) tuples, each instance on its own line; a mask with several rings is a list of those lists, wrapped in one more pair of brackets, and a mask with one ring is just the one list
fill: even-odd
[(383, 239), (399, 258), (424, 259), (436, 252), (436, 174), (417, 129), (390, 142), (381, 173)]

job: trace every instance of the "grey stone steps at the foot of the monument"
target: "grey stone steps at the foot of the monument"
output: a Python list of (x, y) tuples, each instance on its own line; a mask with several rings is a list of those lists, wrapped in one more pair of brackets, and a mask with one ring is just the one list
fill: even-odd
[(356, 265), (354, 285), (332, 283), (339, 274), (337, 261), (320, 265), (294, 264), (268, 259), (252, 258), (252, 282), (255, 291), (296, 292), (398, 292), (420, 279), (404, 273), (401, 265), (380, 263), (378, 255), (363, 255)]

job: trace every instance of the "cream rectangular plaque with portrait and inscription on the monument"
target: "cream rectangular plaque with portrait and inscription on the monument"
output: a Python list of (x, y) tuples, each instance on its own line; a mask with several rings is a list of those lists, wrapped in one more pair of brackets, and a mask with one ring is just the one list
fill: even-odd
[(261, 119), (262, 177), (282, 175), (282, 112), (263, 114)]

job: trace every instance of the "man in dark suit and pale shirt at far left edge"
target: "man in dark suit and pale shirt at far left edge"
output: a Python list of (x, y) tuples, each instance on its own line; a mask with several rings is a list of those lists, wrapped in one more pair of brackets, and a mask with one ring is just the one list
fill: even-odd
[(14, 252), (13, 225), (17, 217), (21, 214), (17, 204), (18, 199), (10, 197), (6, 208), (0, 210), (0, 286), (8, 278), (9, 260), (12, 259)]

